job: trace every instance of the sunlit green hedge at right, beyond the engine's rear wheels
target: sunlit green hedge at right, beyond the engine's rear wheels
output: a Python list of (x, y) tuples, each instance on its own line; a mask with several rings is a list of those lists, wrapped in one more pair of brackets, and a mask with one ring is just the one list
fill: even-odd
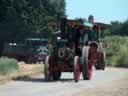
[(104, 38), (102, 42), (108, 65), (128, 66), (128, 37), (110, 36)]

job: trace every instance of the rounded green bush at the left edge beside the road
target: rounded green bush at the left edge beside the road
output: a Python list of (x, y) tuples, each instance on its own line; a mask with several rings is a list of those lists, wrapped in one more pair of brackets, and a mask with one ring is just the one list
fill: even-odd
[(14, 75), (18, 69), (19, 66), (15, 59), (0, 58), (0, 75)]

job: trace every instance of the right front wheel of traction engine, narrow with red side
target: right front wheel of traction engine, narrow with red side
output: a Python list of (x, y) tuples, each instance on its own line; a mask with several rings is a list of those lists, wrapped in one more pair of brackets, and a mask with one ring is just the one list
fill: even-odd
[(78, 56), (75, 56), (74, 58), (74, 80), (75, 82), (78, 82), (80, 80), (80, 58)]

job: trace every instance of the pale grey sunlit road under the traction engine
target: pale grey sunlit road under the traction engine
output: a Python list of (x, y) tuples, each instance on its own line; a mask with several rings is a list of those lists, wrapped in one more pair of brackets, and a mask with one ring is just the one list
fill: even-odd
[(128, 69), (107, 68), (105, 71), (93, 71), (90, 81), (81, 80), (75, 83), (73, 73), (63, 73), (61, 80), (45, 82), (43, 75), (11, 81), (0, 85), (0, 96), (71, 96), (85, 88), (96, 88), (100, 84), (110, 84), (115, 80), (128, 77)]

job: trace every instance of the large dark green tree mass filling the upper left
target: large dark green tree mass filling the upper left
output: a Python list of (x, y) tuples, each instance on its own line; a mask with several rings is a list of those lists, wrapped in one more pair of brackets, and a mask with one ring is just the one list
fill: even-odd
[(65, 15), (65, 0), (0, 0), (0, 51), (3, 42), (49, 37), (49, 21)]

